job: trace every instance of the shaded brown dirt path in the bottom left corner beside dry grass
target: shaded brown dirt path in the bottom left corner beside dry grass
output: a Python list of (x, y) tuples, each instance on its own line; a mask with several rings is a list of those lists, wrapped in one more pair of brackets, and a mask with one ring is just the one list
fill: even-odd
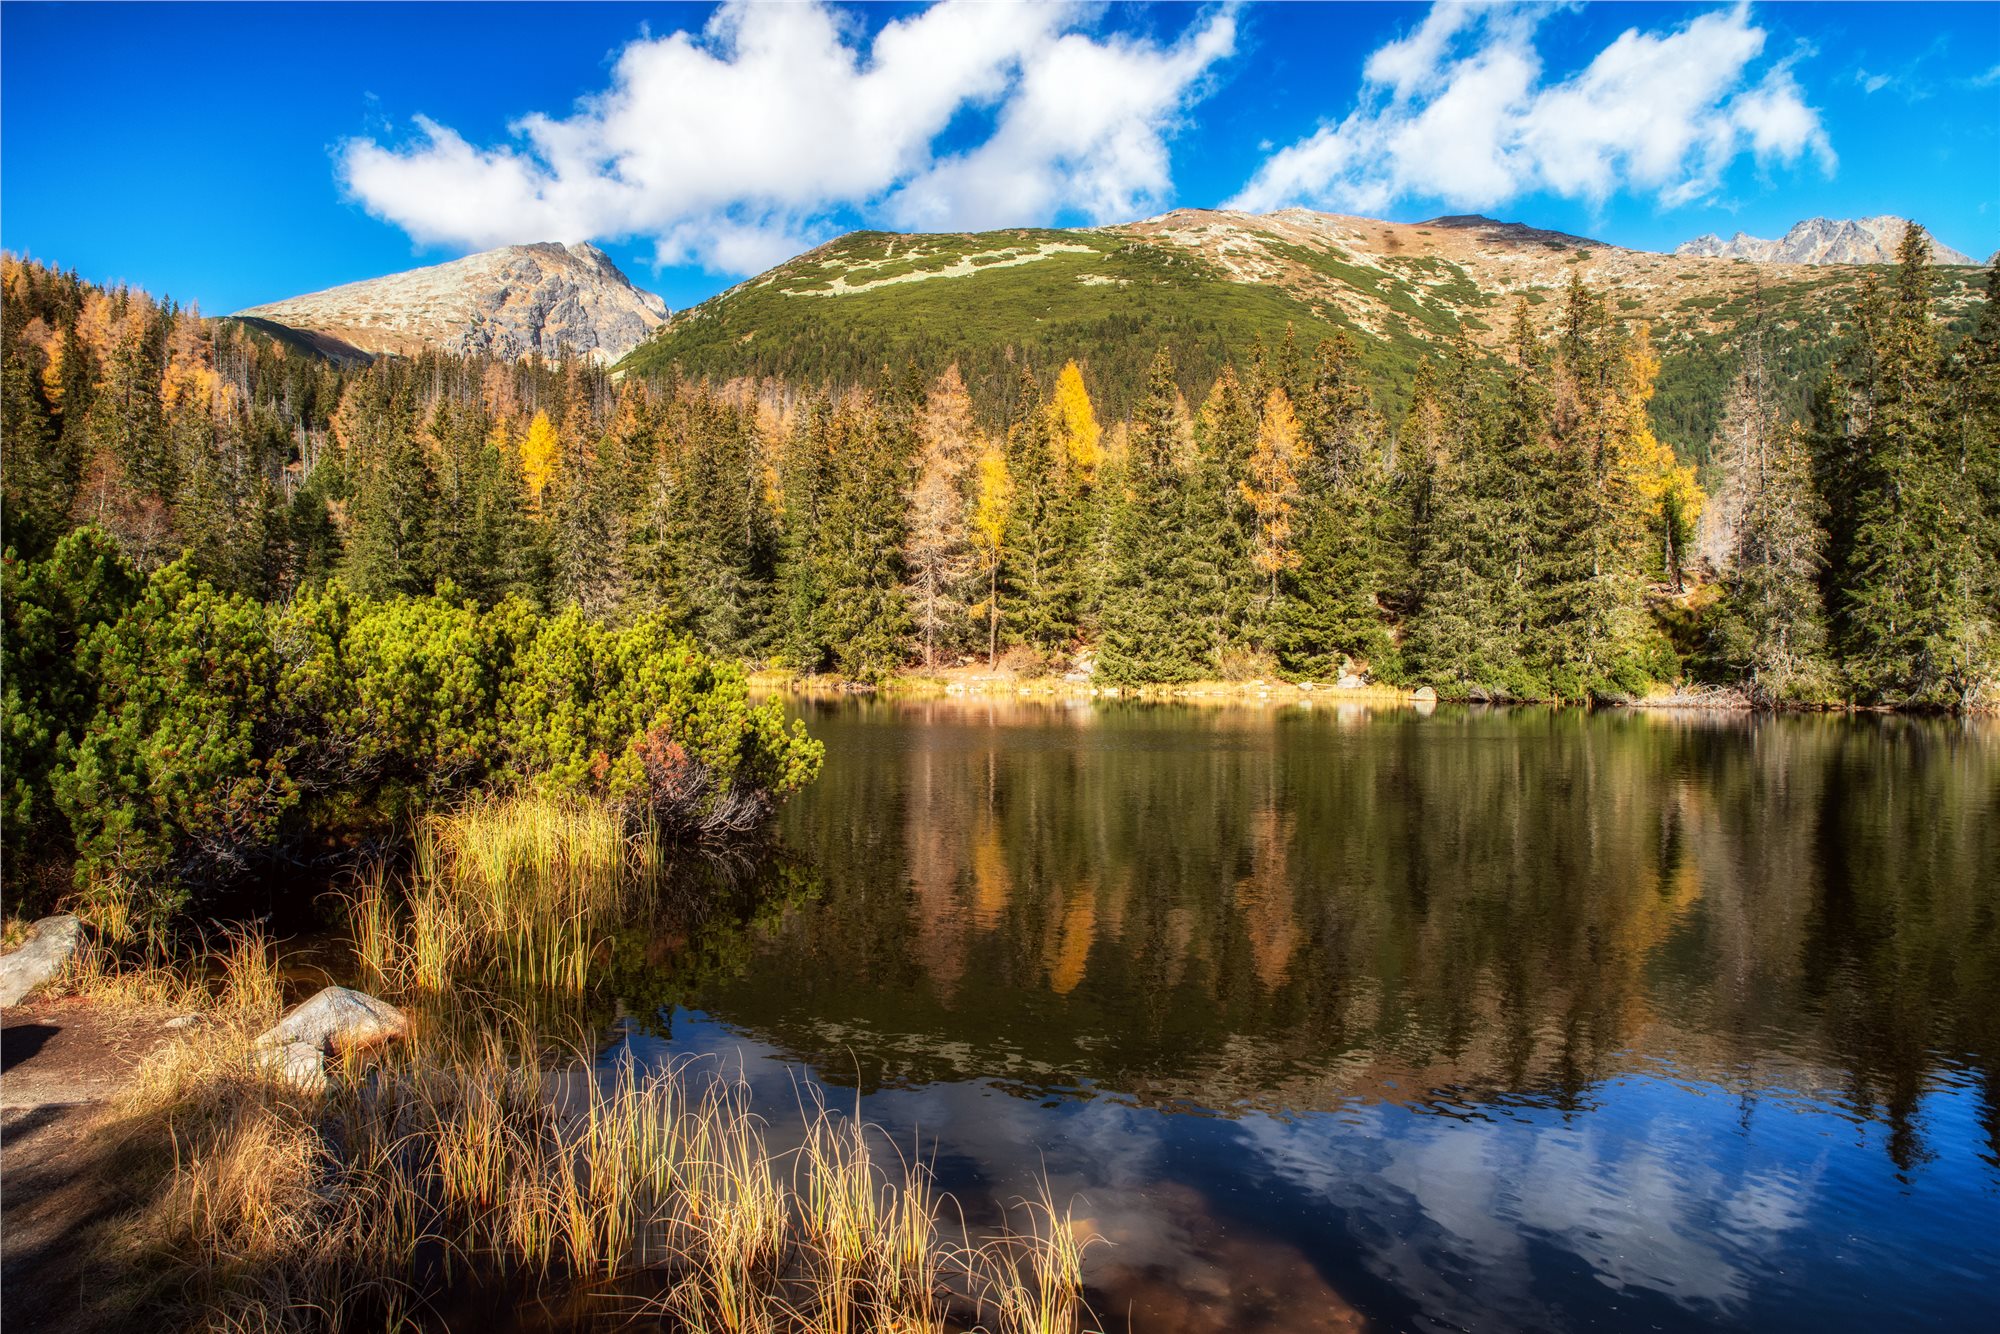
[(130, 1200), (108, 1186), (100, 1120), (168, 1014), (42, 1000), (0, 1010), (0, 1322), (80, 1334), (92, 1318), (88, 1230)]

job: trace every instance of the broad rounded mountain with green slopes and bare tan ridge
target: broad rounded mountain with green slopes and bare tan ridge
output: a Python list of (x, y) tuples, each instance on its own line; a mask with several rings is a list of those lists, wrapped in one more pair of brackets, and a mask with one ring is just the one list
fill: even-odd
[[(1716, 264), (1478, 216), (1378, 222), (1288, 208), (1176, 210), (1142, 222), (980, 234), (852, 232), (674, 314), (622, 368), (802, 384), (874, 384), (914, 360), (956, 360), (974, 394), (1012, 402), (1022, 366), (1066, 358), (1114, 416), (1170, 348), (1190, 394), (1286, 328), (1304, 352), (1356, 336), (1386, 406), (1424, 356), (1464, 334), (1498, 354), (1516, 302), (1544, 328), (1570, 276), (1610, 312), (1652, 322), (1656, 414), (1706, 442), (1732, 374), (1734, 330), (1760, 306), (1774, 356), (1800, 384), (1832, 356), (1868, 270)], [(1946, 314), (1970, 310), (1980, 274), (1940, 270)]]

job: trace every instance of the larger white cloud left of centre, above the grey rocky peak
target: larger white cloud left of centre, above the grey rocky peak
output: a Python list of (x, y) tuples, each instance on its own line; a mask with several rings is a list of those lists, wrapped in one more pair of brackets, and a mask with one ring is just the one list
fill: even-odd
[[(1094, 8), (942, 0), (872, 40), (840, 10), (722, 6), (700, 34), (626, 46), (568, 116), (466, 142), (340, 148), (348, 192), (426, 244), (648, 236), (662, 264), (756, 272), (844, 210), (932, 226), (1124, 216), (1166, 198), (1166, 138), (1234, 50), (1228, 8), (1172, 44), (1094, 36)], [(966, 110), (994, 130), (938, 158)]]

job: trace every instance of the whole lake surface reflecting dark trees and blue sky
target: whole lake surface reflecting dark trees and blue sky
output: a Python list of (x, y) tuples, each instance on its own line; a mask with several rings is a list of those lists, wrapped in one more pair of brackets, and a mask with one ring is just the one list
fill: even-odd
[(764, 908), (616, 1054), (818, 1086), (974, 1224), (1046, 1180), (1104, 1328), (1990, 1312), (1994, 724), (798, 712)]

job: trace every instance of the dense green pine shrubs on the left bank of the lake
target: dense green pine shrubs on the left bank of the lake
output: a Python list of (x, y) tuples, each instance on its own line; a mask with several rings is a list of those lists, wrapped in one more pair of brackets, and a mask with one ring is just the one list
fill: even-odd
[(736, 838), (818, 772), (778, 702), (658, 616), (614, 630), (454, 596), (332, 584), (264, 606), (186, 560), (138, 580), (90, 528), (10, 556), (8, 856), (68, 838), (78, 888), (160, 920), (316, 830), (482, 786)]

